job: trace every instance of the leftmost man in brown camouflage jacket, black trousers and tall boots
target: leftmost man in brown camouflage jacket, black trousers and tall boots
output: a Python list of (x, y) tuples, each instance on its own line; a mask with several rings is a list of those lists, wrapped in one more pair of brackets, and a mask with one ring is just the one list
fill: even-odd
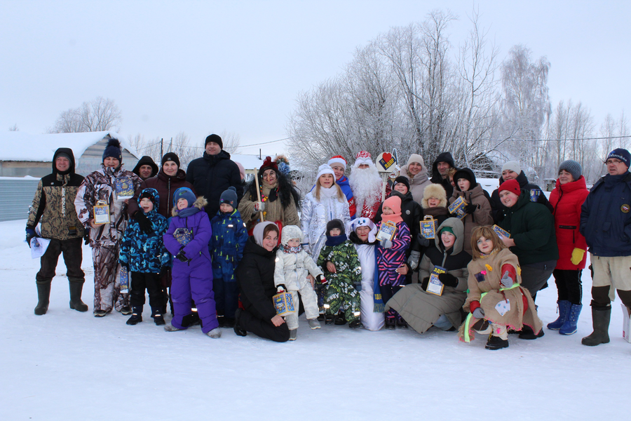
[(70, 284), (70, 308), (87, 312), (88, 306), (81, 301), (85, 276), (81, 270), (81, 238), (83, 225), (74, 209), (74, 196), (83, 177), (74, 173), (72, 149), (60, 147), (53, 155), (53, 173), (46, 175), (37, 185), (33, 205), (29, 212), (26, 236), (30, 246), (36, 236), (35, 227), (41, 222), (41, 236), (49, 239), (46, 253), (40, 259), (41, 268), (35, 275), (38, 303), (35, 314), (46, 314), (50, 298), (50, 282), (55, 276), (59, 255), (64, 262)]

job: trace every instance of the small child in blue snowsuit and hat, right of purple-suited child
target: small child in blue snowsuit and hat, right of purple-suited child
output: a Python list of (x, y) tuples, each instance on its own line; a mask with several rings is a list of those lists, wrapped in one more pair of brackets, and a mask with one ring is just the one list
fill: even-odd
[(208, 248), (212, 254), (212, 291), (215, 293), (219, 326), (234, 327), (234, 313), (239, 302), (239, 287), (234, 277), (243, 257), (247, 229), (237, 205), (236, 189), (229, 187), (219, 199), (219, 211), (212, 218), (212, 237)]

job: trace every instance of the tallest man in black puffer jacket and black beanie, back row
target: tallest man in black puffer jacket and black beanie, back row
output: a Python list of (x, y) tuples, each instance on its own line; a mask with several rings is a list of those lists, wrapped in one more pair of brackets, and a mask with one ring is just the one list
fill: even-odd
[(186, 181), (193, 185), (195, 192), (208, 201), (205, 207), (212, 219), (219, 210), (219, 198), (228, 187), (237, 191), (237, 201), (243, 197), (239, 167), (230, 159), (230, 154), (223, 150), (224, 143), (218, 135), (209, 135), (205, 140), (205, 152), (201, 158), (194, 159), (186, 168)]

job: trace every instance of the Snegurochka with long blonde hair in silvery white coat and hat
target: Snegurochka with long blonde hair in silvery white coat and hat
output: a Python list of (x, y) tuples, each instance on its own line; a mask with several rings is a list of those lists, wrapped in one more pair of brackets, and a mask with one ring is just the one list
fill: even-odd
[(313, 260), (318, 260), (320, 249), (327, 241), (327, 222), (334, 219), (341, 220), (347, 226), (351, 214), (348, 213), (346, 196), (335, 184), (333, 168), (325, 163), (318, 168), (315, 188), (302, 201), (302, 232), (306, 235), (303, 246)]

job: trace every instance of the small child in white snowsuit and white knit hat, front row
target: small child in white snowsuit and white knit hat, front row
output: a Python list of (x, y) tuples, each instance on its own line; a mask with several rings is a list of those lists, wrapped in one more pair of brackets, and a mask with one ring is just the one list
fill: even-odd
[[(283, 227), (280, 247), (276, 250), (274, 286), (278, 288), (279, 293), (283, 290), (289, 291), (294, 305), (298, 305), (298, 293), (300, 293), (309, 327), (319, 329), (318, 297), (313, 290), (313, 279), (318, 279), (318, 282), (322, 283), (324, 276), (320, 267), (315, 265), (311, 256), (302, 249), (300, 243), (303, 238), (302, 231), (296, 225)], [(296, 340), (298, 313), (286, 316), (285, 321), (290, 330), (290, 340)]]

